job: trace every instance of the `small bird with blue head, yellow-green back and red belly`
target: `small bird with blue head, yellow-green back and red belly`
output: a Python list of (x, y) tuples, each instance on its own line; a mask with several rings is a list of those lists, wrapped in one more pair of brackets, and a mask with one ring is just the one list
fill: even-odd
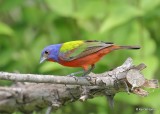
[[(118, 46), (111, 42), (96, 40), (70, 41), (45, 47), (41, 53), (40, 63), (47, 60), (68, 67), (82, 67), (83, 75), (86, 75), (93, 70), (95, 63), (104, 55), (118, 49), (140, 49), (140, 47)], [(90, 69), (89, 66), (91, 66)], [(78, 73), (73, 73), (73, 75)]]

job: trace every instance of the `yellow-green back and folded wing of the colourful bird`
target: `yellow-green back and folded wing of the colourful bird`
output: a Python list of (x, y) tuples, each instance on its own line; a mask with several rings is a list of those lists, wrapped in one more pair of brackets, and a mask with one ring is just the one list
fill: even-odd
[(72, 61), (93, 54), (103, 48), (112, 46), (113, 43), (101, 41), (71, 41), (64, 43), (60, 49), (59, 58)]

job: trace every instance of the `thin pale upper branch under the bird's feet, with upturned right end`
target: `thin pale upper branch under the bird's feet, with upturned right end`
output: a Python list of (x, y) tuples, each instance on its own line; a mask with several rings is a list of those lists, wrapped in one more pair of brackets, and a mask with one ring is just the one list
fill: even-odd
[[(105, 80), (110, 80), (110, 75), (115, 78), (118, 78), (116, 74), (119, 74), (120, 72), (123, 72), (127, 69), (129, 69), (132, 66), (132, 60), (129, 58), (125, 61), (125, 63), (117, 67), (113, 71), (105, 72), (103, 74), (93, 74), (91, 73), (91, 77), (104, 77)], [(120, 75), (123, 78), (125, 75)], [(17, 74), (17, 73), (8, 73), (8, 72), (0, 72), (0, 79), (3, 80), (12, 80), (17, 82), (35, 82), (35, 83), (52, 83), (52, 84), (70, 84), (70, 85), (93, 85), (96, 82), (96, 85), (98, 85), (98, 79), (95, 81), (93, 80), (88, 81), (88, 78), (85, 77), (77, 77), (76, 79), (74, 77), (68, 77), (68, 76), (53, 76), (53, 75), (37, 75), (37, 74)]]

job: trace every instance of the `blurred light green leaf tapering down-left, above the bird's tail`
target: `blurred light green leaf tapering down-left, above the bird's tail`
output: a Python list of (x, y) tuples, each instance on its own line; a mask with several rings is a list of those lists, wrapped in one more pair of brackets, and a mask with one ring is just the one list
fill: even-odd
[(110, 14), (110, 16), (102, 23), (100, 32), (108, 32), (109, 30), (127, 23), (131, 19), (141, 15), (142, 12), (132, 6), (117, 6), (113, 9), (112, 14)]

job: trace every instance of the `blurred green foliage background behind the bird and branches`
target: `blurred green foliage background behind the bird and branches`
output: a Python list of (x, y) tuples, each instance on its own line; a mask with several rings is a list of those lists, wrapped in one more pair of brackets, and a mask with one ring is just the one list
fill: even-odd
[[(95, 73), (132, 57), (135, 64), (147, 65), (146, 78), (160, 79), (160, 0), (0, 0), (1, 71), (55, 75), (78, 71), (56, 63), (39, 65), (39, 59), (47, 45), (80, 39), (142, 47), (110, 53), (97, 63)], [(0, 81), (0, 85), (10, 83)], [(117, 94), (113, 110), (102, 96), (66, 104), (55, 114), (159, 114), (160, 91), (149, 91), (145, 98)], [(136, 111), (138, 107), (153, 110)]]

